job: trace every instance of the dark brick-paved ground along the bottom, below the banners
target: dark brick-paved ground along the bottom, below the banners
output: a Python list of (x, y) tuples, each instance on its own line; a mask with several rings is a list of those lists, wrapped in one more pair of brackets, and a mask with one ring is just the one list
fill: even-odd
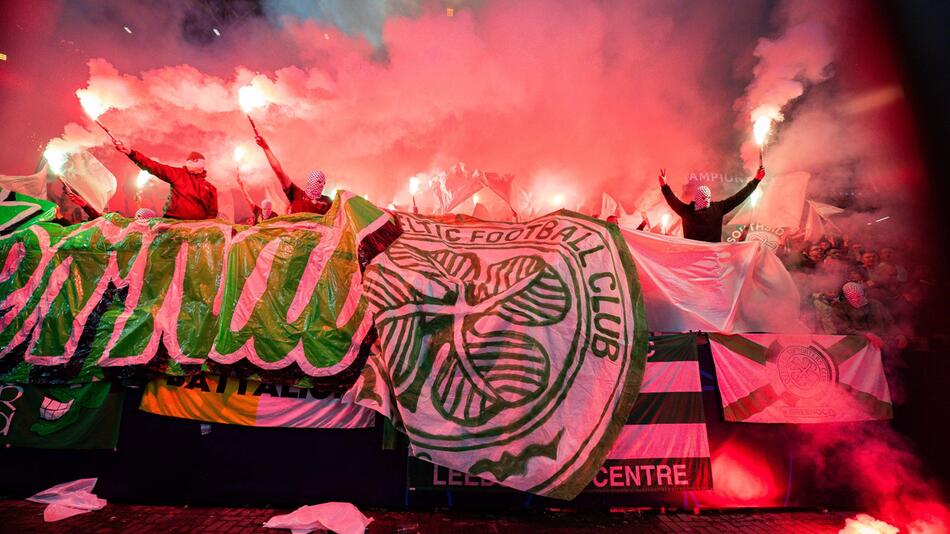
[[(2, 532), (206, 532), (211, 534), (288, 532), (262, 528), (271, 516), (285, 509), (203, 508), (140, 506), (109, 503), (98, 512), (43, 522), (45, 505), (26, 501), (0, 501)], [(517, 534), (519, 532), (671, 532), (719, 534), (729, 532), (835, 533), (848, 512), (704, 512), (658, 514), (655, 512), (569, 513), (512, 512), (485, 514), (462, 511), (363, 510), (374, 518), (369, 532)]]

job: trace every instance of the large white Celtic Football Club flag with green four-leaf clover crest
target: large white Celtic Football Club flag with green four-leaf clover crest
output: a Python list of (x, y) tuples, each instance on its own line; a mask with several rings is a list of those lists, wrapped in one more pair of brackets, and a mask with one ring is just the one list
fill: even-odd
[(359, 402), (416, 457), (571, 499), (627, 421), (646, 324), (619, 230), (560, 211), (529, 223), (398, 216), (366, 271), (379, 331)]

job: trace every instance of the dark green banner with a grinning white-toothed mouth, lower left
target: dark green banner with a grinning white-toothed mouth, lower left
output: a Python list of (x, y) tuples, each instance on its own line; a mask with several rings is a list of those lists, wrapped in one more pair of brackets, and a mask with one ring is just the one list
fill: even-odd
[(123, 390), (108, 382), (74, 386), (0, 384), (0, 445), (111, 449), (119, 438)]

